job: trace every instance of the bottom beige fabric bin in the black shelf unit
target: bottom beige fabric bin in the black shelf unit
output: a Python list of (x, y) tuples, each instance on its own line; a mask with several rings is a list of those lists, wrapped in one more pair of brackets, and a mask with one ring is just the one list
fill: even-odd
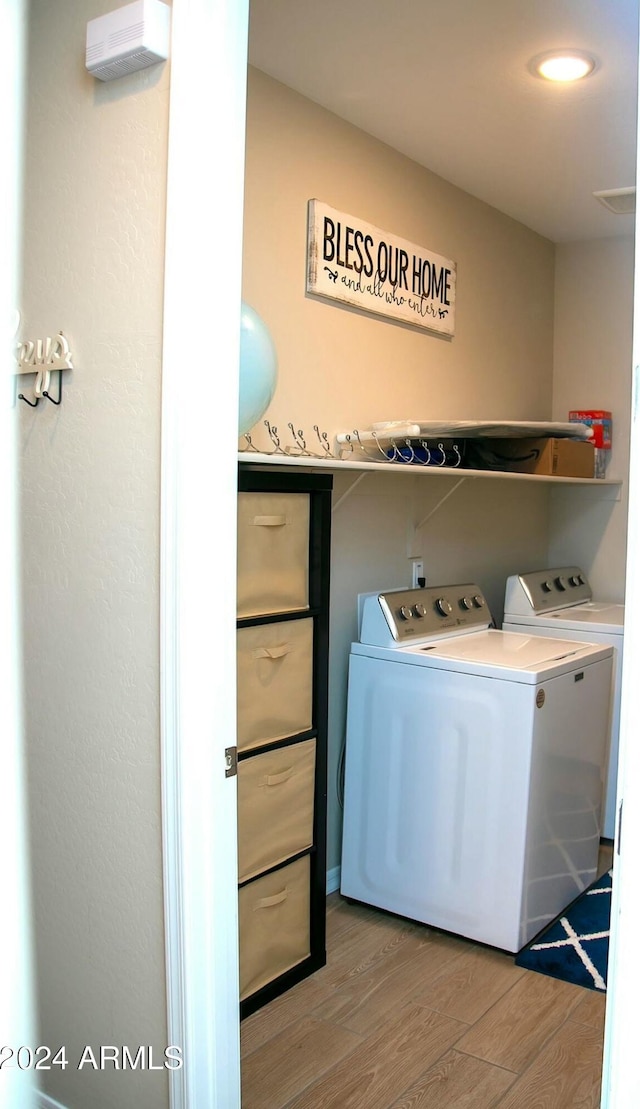
[(243, 1000), (311, 954), (308, 855), (243, 886), (238, 914)]

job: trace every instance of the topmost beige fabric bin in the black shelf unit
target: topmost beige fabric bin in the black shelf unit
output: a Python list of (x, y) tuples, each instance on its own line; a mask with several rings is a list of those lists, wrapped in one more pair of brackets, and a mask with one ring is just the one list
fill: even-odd
[(308, 608), (308, 494), (238, 494), (238, 617)]

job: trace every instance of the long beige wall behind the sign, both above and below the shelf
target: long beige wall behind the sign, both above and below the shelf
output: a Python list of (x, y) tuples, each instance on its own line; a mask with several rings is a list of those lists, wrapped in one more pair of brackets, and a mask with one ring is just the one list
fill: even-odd
[[(305, 295), (312, 197), (457, 262), (453, 340)], [(549, 419), (553, 258), (547, 240), (250, 69), (243, 296), (277, 349), (266, 418), (283, 442), (289, 420), (333, 437), (374, 419)], [(253, 439), (268, 445), (260, 423)], [(336, 476), (336, 502), (352, 481)], [(416, 553), (431, 584), (477, 581), (500, 620), (506, 577), (547, 558), (546, 486), (467, 480), (444, 502), (450, 490), (372, 475), (333, 513), (329, 871), (357, 593), (409, 584)]]

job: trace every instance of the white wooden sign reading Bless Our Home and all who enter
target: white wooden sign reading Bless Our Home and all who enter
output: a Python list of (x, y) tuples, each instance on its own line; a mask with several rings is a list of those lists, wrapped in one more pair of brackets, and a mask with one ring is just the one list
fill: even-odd
[(321, 201), (308, 202), (307, 293), (454, 334), (456, 263)]

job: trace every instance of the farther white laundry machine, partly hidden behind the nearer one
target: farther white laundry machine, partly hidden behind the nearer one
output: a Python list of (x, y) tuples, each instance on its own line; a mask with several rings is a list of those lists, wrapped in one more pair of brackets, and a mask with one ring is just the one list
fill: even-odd
[(602, 835), (612, 840), (616, 831), (624, 606), (595, 601), (587, 574), (578, 566), (536, 570), (531, 573), (512, 574), (507, 579), (502, 628), (534, 635), (562, 635), (580, 643), (608, 643), (613, 648), (602, 820)]

